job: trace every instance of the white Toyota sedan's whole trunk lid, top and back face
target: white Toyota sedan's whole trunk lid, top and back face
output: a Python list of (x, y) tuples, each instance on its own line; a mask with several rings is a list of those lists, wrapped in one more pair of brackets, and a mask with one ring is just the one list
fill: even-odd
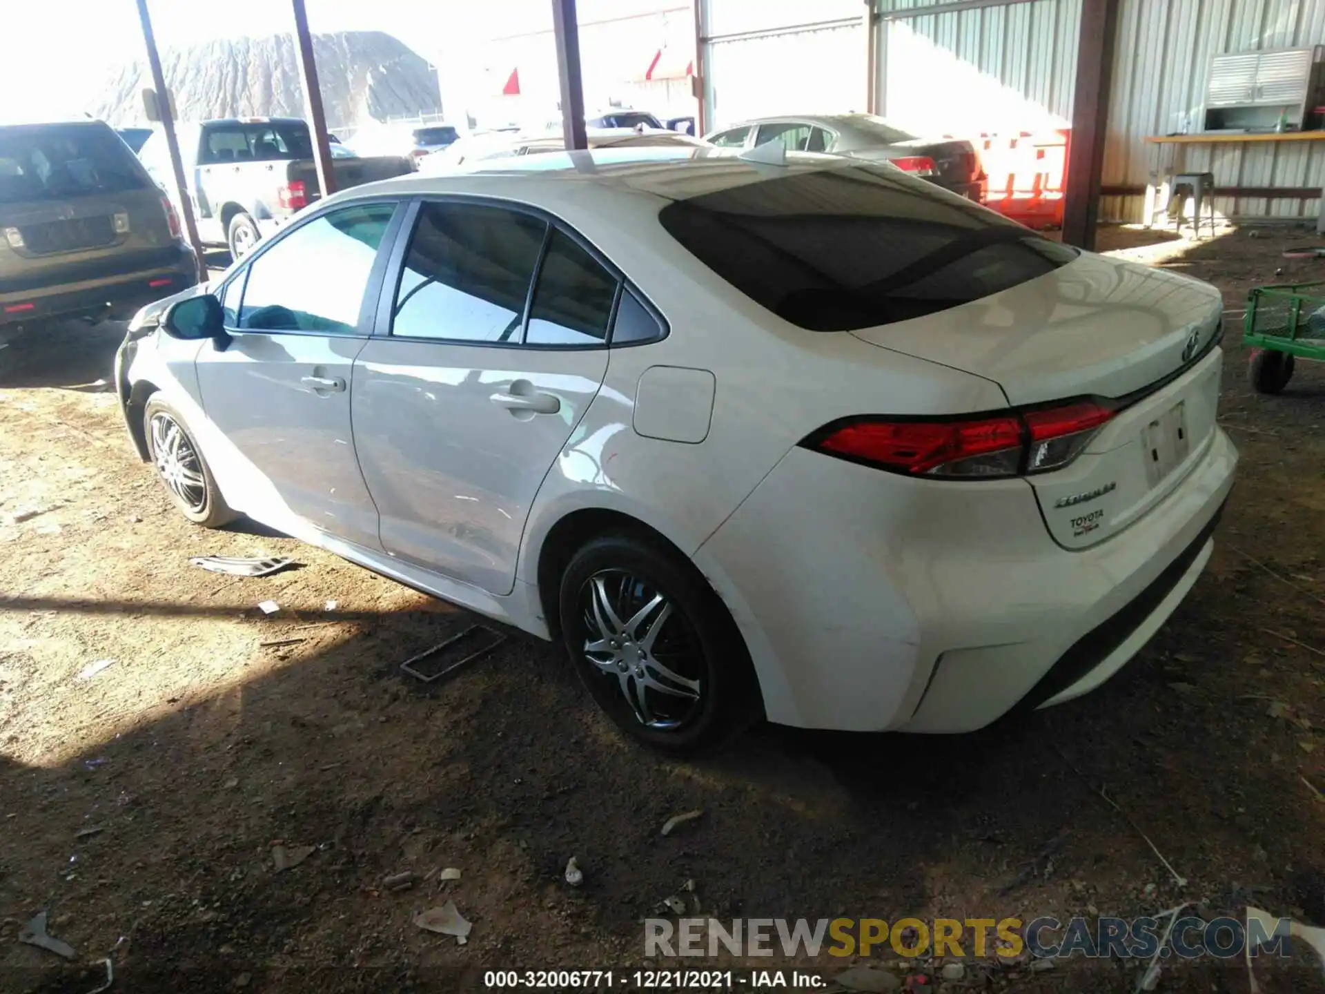
[(1084, 253), (991, 297), (852, 334), (994, 380), (1015, 407), (1113, 402), (1076, 460), (1027, 477), (1055, 541), (1085, 549), (1162, 501), (1210, 445), (1220, 314), (1211, 286)]

